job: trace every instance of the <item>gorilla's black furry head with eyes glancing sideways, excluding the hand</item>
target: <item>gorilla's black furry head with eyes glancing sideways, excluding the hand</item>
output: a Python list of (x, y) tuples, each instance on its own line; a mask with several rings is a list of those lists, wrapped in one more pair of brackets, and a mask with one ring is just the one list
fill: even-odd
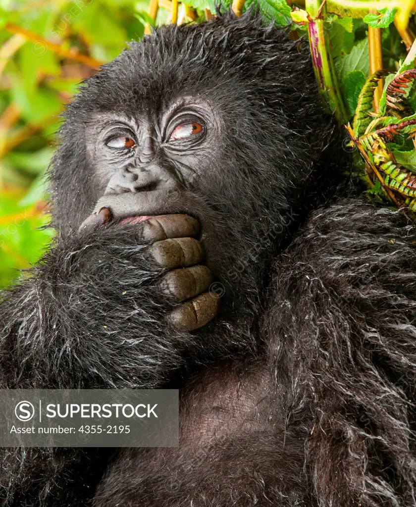
[(188, 213), (207, 265), (234, 296), (254, 298), (331, 128), (299, 47), (255, 14), (227, 13), (163, 26), (103, 65), (60, 130), (61, 233), (120, 196), (116, 218)]

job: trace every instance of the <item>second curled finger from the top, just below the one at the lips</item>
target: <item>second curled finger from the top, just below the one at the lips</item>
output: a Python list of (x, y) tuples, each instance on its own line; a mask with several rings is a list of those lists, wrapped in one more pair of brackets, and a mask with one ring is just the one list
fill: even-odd
[(156, 241), (150, 246), (154, 260), (167, 269), (193, 266), (203, 260), (202, 246), (194, 238), (177, 238)]

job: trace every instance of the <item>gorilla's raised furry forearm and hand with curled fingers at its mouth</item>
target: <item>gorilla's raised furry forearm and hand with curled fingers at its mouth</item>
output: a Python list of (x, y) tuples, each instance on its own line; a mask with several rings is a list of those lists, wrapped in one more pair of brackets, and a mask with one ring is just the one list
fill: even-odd
[(2, 301), (0, 386), (152, 388), (200, 353), (189, 331), (210, 321), (219, 301), (206, 292), (198, 222), (106, 213), (105, 226), (57, 238)]

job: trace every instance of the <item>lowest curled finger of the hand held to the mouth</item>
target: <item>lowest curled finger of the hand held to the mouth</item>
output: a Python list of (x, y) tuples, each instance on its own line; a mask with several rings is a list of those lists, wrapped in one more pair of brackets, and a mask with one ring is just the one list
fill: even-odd
[(172, 310), (168, 321), (178, 331), (193, 331), (212, 320), (220, 308), (220, 297), (215, 292), (204, 292)]

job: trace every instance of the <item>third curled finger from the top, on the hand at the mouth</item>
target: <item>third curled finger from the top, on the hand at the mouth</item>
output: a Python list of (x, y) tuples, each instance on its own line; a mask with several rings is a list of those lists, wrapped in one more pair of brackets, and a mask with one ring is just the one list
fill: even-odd
[(211, 282), (211, 271), (199, 264), (169, 271), (162, 279), (162, 286), (166, 294), (180, 303), (206, 291)]

